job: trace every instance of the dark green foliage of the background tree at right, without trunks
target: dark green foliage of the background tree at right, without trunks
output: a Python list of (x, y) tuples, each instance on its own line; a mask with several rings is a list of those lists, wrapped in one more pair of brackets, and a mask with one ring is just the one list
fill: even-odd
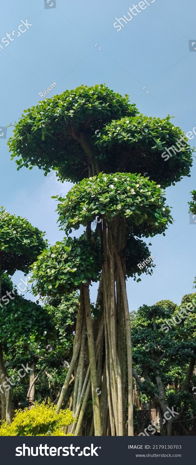
[[(185, 295), (180, 308), (185, 308), (185, 304), (195, 297), (196, 294)], [(131, 333), (133, 364), (137, 367), (137, 374), (145, 380), (138, 390), (151, 399), (159, 395), (158, 373), (167, 404), (175, 405), (178, 412), (184, 410), (182, 418), (185, 419), (196, 415), (192, 382), (182, 391), (190, 359), (196, 357), (196, 309), (184, 319), (181, 317), (179, 325), (172, 326), (171, 323), (168, 332), (161, 329), (164, 320), (176, 317), (178, 310), (179, 307), (170, 300), (162, 300), (150, 307), (144, 305), (138, 309), (136, 318), (131, 320)]]

